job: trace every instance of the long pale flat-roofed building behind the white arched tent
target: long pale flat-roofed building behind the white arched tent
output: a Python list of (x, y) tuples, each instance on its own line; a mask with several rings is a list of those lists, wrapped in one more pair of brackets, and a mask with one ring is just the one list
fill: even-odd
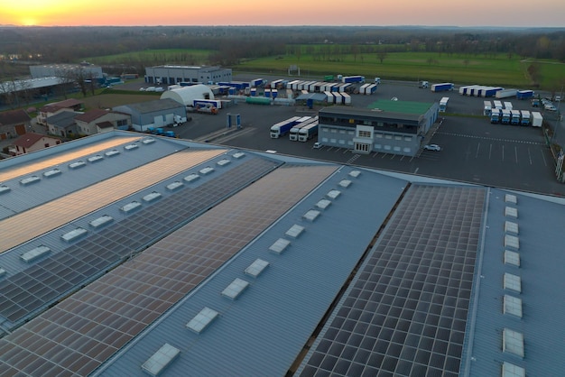
[(173, 85), (180, 82), (209, 84), (231, 80), (232, 70), (220, 67), (164, 65), (145, 68), (145, 82), (156, 85)]

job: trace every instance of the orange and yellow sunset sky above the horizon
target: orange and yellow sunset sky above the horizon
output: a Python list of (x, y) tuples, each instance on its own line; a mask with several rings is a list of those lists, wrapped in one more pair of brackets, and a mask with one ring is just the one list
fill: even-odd
[(565, 0), (0, 0), (16, 26), (425, 25), (565, 27)]

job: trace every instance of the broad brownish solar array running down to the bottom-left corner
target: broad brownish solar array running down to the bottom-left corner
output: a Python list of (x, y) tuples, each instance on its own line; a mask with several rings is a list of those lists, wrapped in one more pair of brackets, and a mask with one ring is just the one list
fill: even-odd
[(92, 372), (335, 170), (283, 166), (258, 179), (0, 339), (0, 375)]

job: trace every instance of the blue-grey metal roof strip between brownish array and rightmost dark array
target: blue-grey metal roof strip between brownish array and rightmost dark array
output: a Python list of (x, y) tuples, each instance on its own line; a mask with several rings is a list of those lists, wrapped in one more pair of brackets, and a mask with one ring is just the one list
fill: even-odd
[[(188, 370), (194, 375), (283, 375), (406, 186), (401, 179), (364, 172), (349, 188), (340, 188), (349, 170), (342, 168), (313, 190), (101, 374), (143, 375), (139, 365), (166, 341), (182, 351), (163, 375)], [(315, 221), (302, 219), (331, 189), (342, 194)], [(291, 245), (283, 253), (269, 252), (295, 224), (304, 232), (288, 238)], [(270, 265), (254, 279), (244, 271), (257, 258)], [(235, 278), (250, 286), (232, 301), (220, 292)], [(197, 335), (185, 326), (205, 307), (220, 316)]]

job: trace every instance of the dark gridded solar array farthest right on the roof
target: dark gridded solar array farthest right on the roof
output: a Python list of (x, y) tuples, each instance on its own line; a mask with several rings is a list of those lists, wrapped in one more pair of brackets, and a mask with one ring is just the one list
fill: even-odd
[(300, 375), (458, 376), (485, 196), (412, 186)]

